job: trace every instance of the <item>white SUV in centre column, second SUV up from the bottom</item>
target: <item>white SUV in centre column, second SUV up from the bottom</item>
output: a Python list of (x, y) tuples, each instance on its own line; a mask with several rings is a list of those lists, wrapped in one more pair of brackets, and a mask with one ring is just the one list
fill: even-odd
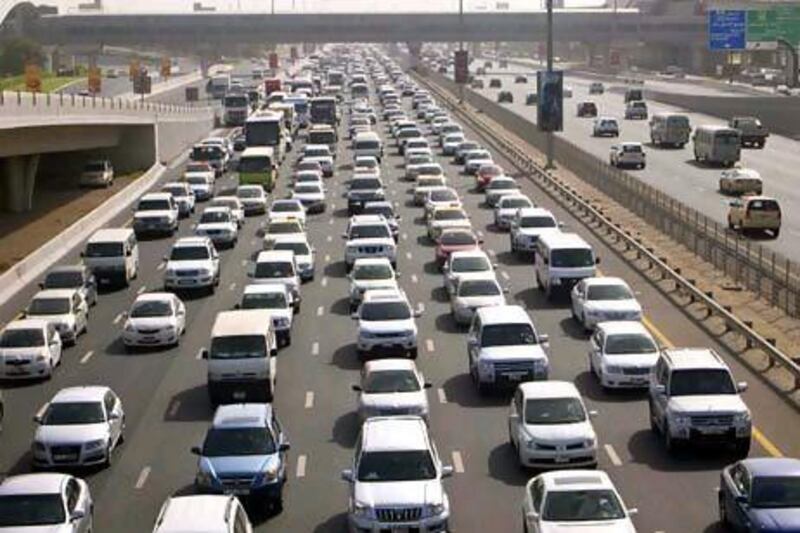
[(399, 351), (417, 358), (417, 325), (419, 312), (411, 310), (405, 293), (400, 289), (372, 289), (364, 293), (359, 310), (353, 313), (358, 320), (357, 350), (360, 359), (368, 354)]

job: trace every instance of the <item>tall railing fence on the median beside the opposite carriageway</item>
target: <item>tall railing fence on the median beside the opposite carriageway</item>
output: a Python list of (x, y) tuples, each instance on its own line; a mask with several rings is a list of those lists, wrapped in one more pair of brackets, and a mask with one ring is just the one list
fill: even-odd
[[(445, 76), (427, 72), (434, 83), (451, 94), (458, 87)], [(484, 96), (464, 91), (464, 99), (509, 131), (535, 146), (546, 147), (547, 137), (526, 118)], [(792, 317), (800, 316), (800, 265), (746, 239), (658, 189), (609, 166), (566, 139), (556, 137), (555, 158), (571, 172), (610, 198), (684, 244), (737, 283), (768, 300)]]

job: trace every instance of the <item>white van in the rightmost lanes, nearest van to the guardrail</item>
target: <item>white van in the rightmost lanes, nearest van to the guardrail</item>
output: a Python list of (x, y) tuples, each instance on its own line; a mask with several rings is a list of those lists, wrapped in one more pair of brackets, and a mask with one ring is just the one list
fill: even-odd
[(537, 286), (548, 299), (556, 291), (569, 293), (580, 280), (595, 276), (600, 262), (577, 233), (558, 231), (539, 236), (533, 261)]

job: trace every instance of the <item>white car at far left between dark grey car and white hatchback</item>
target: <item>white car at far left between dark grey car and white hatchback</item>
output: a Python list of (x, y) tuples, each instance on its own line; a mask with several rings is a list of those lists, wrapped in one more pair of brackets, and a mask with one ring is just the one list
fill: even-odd
[(64, 343), (74, 345), (88, 328), (89, 305), (77, 289), (45, 289), (33, 296), (25, 316), (48, 321)]

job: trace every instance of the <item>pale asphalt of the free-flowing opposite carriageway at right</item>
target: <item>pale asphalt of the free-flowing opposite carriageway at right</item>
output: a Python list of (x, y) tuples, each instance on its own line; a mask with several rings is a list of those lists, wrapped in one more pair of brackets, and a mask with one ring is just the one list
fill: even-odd
[[(511, 67), (509, 70), (519, 70), (519, 68)], [(502, 88), (489, 89), (490, 78), (500, 78)], [(528, 118), (531, 123), (536, 122), (536, 108), (525, 105), (525, 94), (536, 90), (534, 72), (528, 75), (526, 84), (514, 83), (512, 74), (490, 74), (485, 76), (484, 80), (486, 89), (478, 92), (496, 101), (500, 90), (510, 90), (514, 95), (514, 103), (504, 105), (515, 113)], [(623, 86), (606, 83), (606, 92), (603, 95), (589, 95), (588, 89), (591, 81), (593, 80), (580, 76), (567, 75), (565, 77), (564, 83), (572, 87), (574, 95), (572, 98), (564, 99), (564, 131), (559, 135), (604, 161), (608, 161), (610, 147), (617, 142), (639, 141), (645, 143), (647, 168), (631, 170), (631, 175), (720, 223), (727, 224), (730, 198), (717, 191), (718, 179), (722, 170), (697, 164), (694, 161), (691, 142), (682, 149), (651, 146), (648, 121), (624, 120), (623, 94), (613, 91), (614, 88), (621, 89)], [(672, 91), (677, 90), (676, 84), (672, 82), (663, 82), (663, 85)], [(695, 86), (690, 83), (678, 84), (677, 87), (681, 87), (681, 90), (717, 95), (720, 98), (726, 96), (726, 93), (720, 90)], [(616, 117), (619, 120), (621, 134), (618, 139), (592, 137), (593, 120), (576, 116), (577, 103), (587, 100), (597, 104), (599, 115)], [(789, 100), (787, 100), (788, 103)], [(685, 113), (689, 116), (693, 127), (702, 124), (723, 123), (717, 117), (689, 112), (660, 102), (649, 101), (648, 106), (651, 114), (675, 111)], [(753, 113), (757, 115), (758, 110), (754, 109)], [(777, 198), (783, 208), (780, 237), (776, 240), (754, 238), (759, 239), (771, 250), (780, 252), (795, 261), (800, 260), (800, 247), (795, 245), (800, 238), (800, 209), (797, 208), (800, 206), (800, 189), (796, 184), (796, 169), (800, 168), (800, 142), (780, 135), (771, 135), (763, 150), (743, 148), (742, 164), (761, 173), (764, 180), (764, 194)]]

